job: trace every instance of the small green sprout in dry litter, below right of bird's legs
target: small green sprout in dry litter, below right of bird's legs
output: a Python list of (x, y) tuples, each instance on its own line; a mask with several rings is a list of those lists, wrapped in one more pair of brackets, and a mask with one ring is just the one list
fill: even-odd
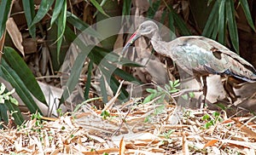
[(213, 112), (212, 116), (209, 114), (205, 114), (202, 117), (202, 120), (207, 122), (207, 123), (205, 123), (204, 128), (209, 129), (211, 126), (215, 125), (216, 123), (222, 122), (223, 118), (220, 117), (219, 112)]

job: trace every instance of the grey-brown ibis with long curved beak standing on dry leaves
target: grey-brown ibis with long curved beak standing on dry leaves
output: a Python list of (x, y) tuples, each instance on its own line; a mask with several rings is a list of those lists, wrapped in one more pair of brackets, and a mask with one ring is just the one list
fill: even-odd
[(125, 43), (122, 55), (142, 36), (149, 38), (157, 53), (170, 57), (183, 71), (195, 77), (204, 95), (202, 102), (206, 101), (207, 76), (210, 74), (232, 76), (249, 83), (256, 81), (253, 65), (224, 45), (202, 36), (184, 36), (171, 42), (162, 41), (159, 27), (152, 20), (146, 20), (138, 26), (137, 31)]

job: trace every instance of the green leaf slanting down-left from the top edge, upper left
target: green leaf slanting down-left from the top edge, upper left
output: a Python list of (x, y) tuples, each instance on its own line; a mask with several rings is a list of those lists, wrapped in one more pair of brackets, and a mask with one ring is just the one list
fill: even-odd
[(40, 20), (42, 20), (45, 16), (45, 14), (48, 13), (50, 7), (52, 6), (52, 4), (55, 1), (51, 0), (42, 0), (40, 3), (40, 7), (38, 9), (38, 13), (36, 14), (35, 18), (32, 20), (32, 23), (29, 26), (29, 29), (31, 28), (31, 26), (37, 24)]

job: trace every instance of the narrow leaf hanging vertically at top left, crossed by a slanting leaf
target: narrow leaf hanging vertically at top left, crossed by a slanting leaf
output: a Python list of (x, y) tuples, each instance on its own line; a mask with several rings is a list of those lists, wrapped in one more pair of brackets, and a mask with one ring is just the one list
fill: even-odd
[(36, 26), (31, 26), (32, 20), (35, 17), (35, 9), (34, 9), (34, 1), (33, 0), (22, 0), (23, 9), (26, 16), (26, 24), (30, 26), (28, 29), (30, 35), (35, 38), (36, 37)]

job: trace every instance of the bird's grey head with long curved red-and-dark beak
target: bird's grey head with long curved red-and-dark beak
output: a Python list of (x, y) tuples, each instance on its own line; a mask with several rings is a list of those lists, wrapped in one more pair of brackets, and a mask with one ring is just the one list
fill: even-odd
[(138, 37), (145, 36), (151, 38), (154, 36), (155, 32), (158, 32), (158, 26), (154, 23), (154, 21), (144, 21), (140, 26), (138, 26), (137, 31), (131, 35), (130, 39), (125, 44), (125, 47), (122, 50), (122, 54), (125, 52), (126, 49), (130, 47), (132, 43), (137, 40)]

